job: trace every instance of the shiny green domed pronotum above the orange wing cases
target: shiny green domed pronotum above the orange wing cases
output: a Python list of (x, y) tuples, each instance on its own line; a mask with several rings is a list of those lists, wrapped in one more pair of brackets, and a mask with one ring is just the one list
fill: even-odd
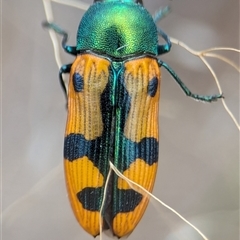
[(124, 58), (144, 53), (157, 55), (158, 33), (152, 16), (133, 1), (94, 3), (77, 32), (77, 51), (91, 50)]

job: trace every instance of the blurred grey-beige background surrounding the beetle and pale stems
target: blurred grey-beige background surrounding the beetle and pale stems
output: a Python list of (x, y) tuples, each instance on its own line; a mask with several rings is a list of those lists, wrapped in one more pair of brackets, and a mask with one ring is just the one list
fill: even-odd
[[(196, 50), (239, 48), (239, 0), (147, 0), (144, 4), (152, 14), (170, 5), (171, 13), (158, 26)], [(84, 11), (57, 3), (53, 11), (55, 22), (69, 33), (68, 44), (75, 45)], [(40, 0), (2, 2), (2, 239), (90, 240), (92, 236), (74, 218), (65, 189), (66, 102), (52, 42), (41, 26), (45, 19)], [(64, 63), (74, 60), (61, 55)], [(238, 54), (224, 55), (239, 65)], [(208, 69), (184, 49), (173, 45), (162, 59), (194, 93), (218, 93)], [(239, 74), (219, 60), (209, 62), (238, 118)], [(221, 101), (203, 104), (187, 98), (162, 70), (160, 128), (154, 194), (209, 240), (239, 239), (239, 132)], [(128, 238), (202, 239), (153, 200)]]

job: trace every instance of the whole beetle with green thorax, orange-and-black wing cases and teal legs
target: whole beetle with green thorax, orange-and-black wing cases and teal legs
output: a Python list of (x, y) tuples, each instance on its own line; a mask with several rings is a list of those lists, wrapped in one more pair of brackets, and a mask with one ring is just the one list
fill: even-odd
[[(193, 94), (158, 59), (170, 51), (171, 41), (141, 0), (95, 0), (80, 21), (76, 46), (66, 45), (67, 33), (55, 24), (44, 26), (62, 35), (63, 49), (76, 56), (59, 71), (68, 102), (64, 168), (73, 212), (92, 236), (99, 235), (101, 221), (103, 230), (123, 237), (141, 220), (149, 198), (115, 173), (105, 186), (109, 161), (152, 191), (158, 163), (160, 68), (196, 100), (211, 102), (223, 96)], [(158, 35), (165, 44), (158, 44)], [(68, 91), (62, 77), (66, 73)]]

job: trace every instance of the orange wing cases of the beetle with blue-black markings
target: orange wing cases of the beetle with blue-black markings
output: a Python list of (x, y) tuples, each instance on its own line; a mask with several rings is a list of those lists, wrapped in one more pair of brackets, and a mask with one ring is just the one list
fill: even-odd
[[(160, 72), (150, 57), (111, 62), (80, 54), (72, 65), (64, 143), (65, 175), (76, 218), (99, 234), (99, 211), (109, 161), (151, 191), (158, 161)], [(115, 174), (107, 186), (102, 221), (118, 237), (140, 221), (148, 197)]]

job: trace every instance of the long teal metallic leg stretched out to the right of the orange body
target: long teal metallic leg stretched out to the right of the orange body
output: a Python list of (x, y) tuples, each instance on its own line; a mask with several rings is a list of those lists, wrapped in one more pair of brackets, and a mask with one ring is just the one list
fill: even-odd
[(167, 69), (167, 71), (172, 75), (187, 96), (203, 102), (212, 102), (217, 101), (219, 98), (223, 98), (223, 94), (204, 96), (192, 93), (168, 64), (159, 59), (158, 65), (159, 67), (163, 66), (165, 69)]

